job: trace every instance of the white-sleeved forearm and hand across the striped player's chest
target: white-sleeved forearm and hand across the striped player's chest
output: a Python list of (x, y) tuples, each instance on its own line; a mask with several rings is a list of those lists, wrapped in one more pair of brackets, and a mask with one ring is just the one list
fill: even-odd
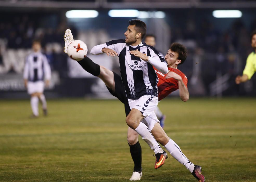
[(151, 56), (146, 56), (145, 54), (141, 53), (137, 50), (130, 51), (131, 54), (139, 57), (143, 61), (148, 61), (151, 65), (153, 65), (156, 69), (158, 69), (161, 73), (166, 74), (168, 73), (168, 67), (165, 62), (159, 61)]

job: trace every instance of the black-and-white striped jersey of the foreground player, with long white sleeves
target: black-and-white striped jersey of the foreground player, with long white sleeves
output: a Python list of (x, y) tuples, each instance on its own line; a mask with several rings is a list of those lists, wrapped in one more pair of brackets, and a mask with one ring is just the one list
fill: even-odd
[[(164, 67), (164, 72), (166, 73), (168, 68), (164, 57), (154, 47), (145, 43), (141, 43), (138, 46), (130, 46), (125, 43), (125, 40), (120, 39), (94, 46), (91, 54), (102, 53), (101, 50), (104, 47), (113, 49), (118, 54), (121, 78), (128, 99), (138, 99), (143, 95), (158, 96), (158, 78), (150, 61), (152, 60), (156, 64), (153, 64), (154, 66), (161, 65), (160, 67)], [(130, 54), (129, 51), (136, 49), (149, 56), (149, 61), (143, 61), (139, 57)]]

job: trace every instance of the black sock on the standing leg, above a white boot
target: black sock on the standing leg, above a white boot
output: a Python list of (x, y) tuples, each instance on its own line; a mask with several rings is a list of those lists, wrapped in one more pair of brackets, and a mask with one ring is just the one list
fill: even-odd
[(130, 146), (130, 152), (131, 152), (132, 160), (134, 162), (133, 171), (142, 171), (142, 167), (141, 167), (141, 146), (139, 144), (139, 141), (136, 144), (129, 145), (129, 146)]

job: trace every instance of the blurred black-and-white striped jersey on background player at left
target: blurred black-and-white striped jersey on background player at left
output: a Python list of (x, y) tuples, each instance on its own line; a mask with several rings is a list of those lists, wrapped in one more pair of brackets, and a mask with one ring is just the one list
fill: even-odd
[(27, 56), (23, 78), (31, 82), (50, 80), (51, 69), (44, 54), (33, 52)]

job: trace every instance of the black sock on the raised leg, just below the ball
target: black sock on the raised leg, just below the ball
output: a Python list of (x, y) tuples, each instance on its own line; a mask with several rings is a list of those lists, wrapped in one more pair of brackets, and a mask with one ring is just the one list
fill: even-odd
[(89, 57), (85, 57), (78, 63), (84, 68), (85, 71), (91, 73), (93, 76), (99, 76), (100, 74), (100, 65), (94, 63)]

